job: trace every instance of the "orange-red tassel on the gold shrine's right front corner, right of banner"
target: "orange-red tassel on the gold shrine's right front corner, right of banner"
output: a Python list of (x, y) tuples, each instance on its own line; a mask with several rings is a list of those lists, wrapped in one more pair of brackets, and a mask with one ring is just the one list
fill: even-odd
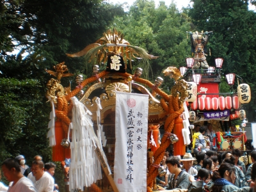
[(183, 120), (180, 117), (175, 118), (175, 121), (174, 121), (173, 134), (176, 134), (177, 137), (179, 138), (179, 141), (177, 141), (176, 143), (173, 143), (174, 156), (184, 156), (184, 154), (186, 153), (186, 145), (184, 145), (184, 138), (182, 136), (182, 128), (183, 128), (182, 121)]

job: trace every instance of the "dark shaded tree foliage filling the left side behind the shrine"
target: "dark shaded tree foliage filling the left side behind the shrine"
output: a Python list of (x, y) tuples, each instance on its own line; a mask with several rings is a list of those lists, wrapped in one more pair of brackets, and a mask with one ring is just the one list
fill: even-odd
[[(83, 58), (65, 53), (95, 42), (124, 10), (101, 0), (2, 0), (0, 13), (0, 161), (18, 154), (28, 165), (37, 154), (51, 161), (46, 138), (51, 107), (45, 103), (51, 76), (45, 68), (65, 61), (71, 73), (83, 74)], [(74, 77), (66, 79), (63, 86)]]

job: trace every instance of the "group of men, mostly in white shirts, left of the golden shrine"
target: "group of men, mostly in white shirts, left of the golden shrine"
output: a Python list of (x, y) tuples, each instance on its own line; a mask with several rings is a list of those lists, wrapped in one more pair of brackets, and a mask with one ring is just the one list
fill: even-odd
[(51, 162), (44, 164), (41, 156), (34, 157), (31, 167), (25, 163), (22, 155), (3, 161), (2, 172), (10, 184), (5, 186), (0, 182), (0, 192), (58, 192), (58, 185), (54, 184), (53, 178), (56, 164)]

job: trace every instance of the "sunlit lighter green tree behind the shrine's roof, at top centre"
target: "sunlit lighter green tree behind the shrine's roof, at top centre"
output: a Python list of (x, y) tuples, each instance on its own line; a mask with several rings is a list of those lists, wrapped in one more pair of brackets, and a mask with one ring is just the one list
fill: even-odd
[[(162, 70), (166, 67), (180, 67), (186, 65), (185, 58), (190, 54), (186, 31), (189, 31), (189, 19), (185, 13), (179, 13), (175, 4), (166, 6), (160, 2), (137, 0), (132, 4), (124, 17), (116, 17), (113, 27), (124, 33), (124, 38), (130, 44), (143, 47), (149, 54), (159, 56), (150, 61), (154, 80), (163, 76)], [(140, 66), (134, 61), (132, 68)], [(170, 77), (164, 79), (164, 86), (170, 86)]]

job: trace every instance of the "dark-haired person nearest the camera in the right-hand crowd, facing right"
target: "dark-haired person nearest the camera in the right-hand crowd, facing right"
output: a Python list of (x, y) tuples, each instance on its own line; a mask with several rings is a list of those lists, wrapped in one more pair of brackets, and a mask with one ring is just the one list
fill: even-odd
[(218, 170), (215, 170), (212, 175), (212, 180), (214, 185), (211, 191), (221, 192), (221, 191), (250, 191), (250, 188), (238, 188), (234, 185), (236, 180), (236, 168), (233, 164), (222, 163)]

